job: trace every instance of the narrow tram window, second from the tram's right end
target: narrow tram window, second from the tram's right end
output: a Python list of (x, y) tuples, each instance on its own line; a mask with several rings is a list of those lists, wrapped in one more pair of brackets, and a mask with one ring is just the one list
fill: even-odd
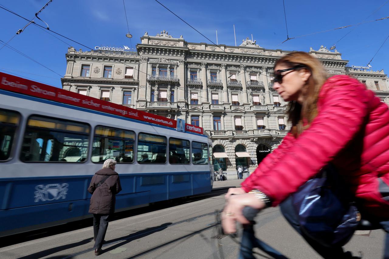
[(179, 138), (169, 139), (169, 163), (189, 164), (190, 159), (189, 140)]

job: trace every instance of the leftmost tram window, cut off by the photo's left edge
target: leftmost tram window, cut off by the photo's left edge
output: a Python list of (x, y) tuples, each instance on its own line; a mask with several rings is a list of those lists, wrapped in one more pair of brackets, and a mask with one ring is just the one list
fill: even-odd
[(9, 159), (20, 114), (11, 110), (0, 109), (0, 161)]

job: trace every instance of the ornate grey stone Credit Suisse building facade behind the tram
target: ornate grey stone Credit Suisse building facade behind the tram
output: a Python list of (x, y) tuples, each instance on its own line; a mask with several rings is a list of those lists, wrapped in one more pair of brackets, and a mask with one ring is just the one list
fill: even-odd
[[(215, 170), (236, 179), (238, 165), (252, 172), (289, 130), (286, 102), (270, 79), (275, 61), (290, 52), (264, 49), (248, 38), (238, 47), (215, 46), (146, 32), (137, 52), (70, 47), (61, 81), (66, 90), (203, 127), (214, 145)], [(356, 77), (389, 105), (383, 70), (352, 68), (323, 46), (309, 53), (330, 75)]]

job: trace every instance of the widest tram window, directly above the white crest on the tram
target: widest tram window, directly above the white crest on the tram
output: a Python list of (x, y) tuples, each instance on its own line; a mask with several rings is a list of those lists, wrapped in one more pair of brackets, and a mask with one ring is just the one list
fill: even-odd
[(20, 155), (25, 162), (78, 162), (88, 154), (89, 125), (56, 118), (31, 116)]

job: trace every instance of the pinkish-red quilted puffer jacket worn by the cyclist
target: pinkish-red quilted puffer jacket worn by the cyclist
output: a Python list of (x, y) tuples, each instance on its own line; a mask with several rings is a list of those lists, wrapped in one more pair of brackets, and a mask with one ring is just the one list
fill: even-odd
[(389, 217), (389, 110), (346, 75), (324, 83), (311, 126), (298, 138), (289, 133), (242, 188), (263, 191), (277, 206), (330, 161), (362, 208)]

